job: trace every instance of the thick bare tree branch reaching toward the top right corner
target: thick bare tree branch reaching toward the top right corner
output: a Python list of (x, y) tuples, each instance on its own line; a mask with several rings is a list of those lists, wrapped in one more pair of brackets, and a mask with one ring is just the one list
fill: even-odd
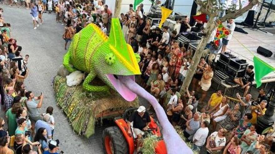
[(252, 0), (247, 6), (243, 7), (242, 9), (238, 10), (235, 13), (228, 13), (220, 19), (217, 19), (217, 22), (220, 20), (222, 22), (227, 21), (228, 19), (235, 19), (238, 16), (241, 16), (244, 12), (247, 12), (251, 9), (254, 5), (258, 3), (258, 0)]

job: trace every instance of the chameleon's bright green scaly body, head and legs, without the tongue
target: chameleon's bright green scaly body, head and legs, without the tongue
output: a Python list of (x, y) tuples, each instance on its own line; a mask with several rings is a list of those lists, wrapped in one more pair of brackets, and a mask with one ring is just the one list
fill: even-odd
[[(132, 47), (124, 40), (119, 20), (113, 18), (110, 38), (95, 24), (89, 24), (74, 35), (63, 65), (69, 72), (80, 70), (89, 73), (83, 88), (98, 92), (109, 91), (110, 87), (114, 89), (106, 74), (141, 74), (137, 59), (140, 60), (140, 57), (134, 54)], [(107, 86), (90, 85), (96, 76)]]

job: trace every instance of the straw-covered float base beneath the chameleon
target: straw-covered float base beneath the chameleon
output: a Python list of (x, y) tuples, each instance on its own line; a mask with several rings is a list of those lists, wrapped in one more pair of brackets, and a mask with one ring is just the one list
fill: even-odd
[(57, 105), (67, 114), (73, 130), (87, 138), (94, 134), (95, 124), (104, 115), (138, 107), (138, 98), (128, 102), (115, 92), (88, 93), (81, 85), (67, 86), (66, 78), (59, 75), (54, 78), (53, 89)]

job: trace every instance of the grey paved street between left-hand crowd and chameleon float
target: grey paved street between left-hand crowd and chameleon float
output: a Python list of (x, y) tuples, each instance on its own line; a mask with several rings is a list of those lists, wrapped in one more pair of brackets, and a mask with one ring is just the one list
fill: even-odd
[[(44, 94), (41, 113), (46, 111), (47, 106), (53, 106), (56, 122), (54, 139), (59, 139), (60, 148), (65, 154), (101, 154), (103, 146), (101, 141), (102, 128), (97, 128), (95, 135), (89, 139), (77, 136), (73, 133), (65, 114), (56, 106), (53, 93), (52, 78), (56, 75), (62, 64), (64, 40), (62, 34), (64, 26), (56, 23), (55, 14), (43, 14), (44, 24), (33, 30), (30, 10), (1, 5), (4, 20), (11, 24), (12, 37), (17, 44), (22, 46), (22, 55), (29, 54), (29, 76), (25, 80), (27, 90), (35, 95)], [(0, 116), (4, 113), (1, 111)]]

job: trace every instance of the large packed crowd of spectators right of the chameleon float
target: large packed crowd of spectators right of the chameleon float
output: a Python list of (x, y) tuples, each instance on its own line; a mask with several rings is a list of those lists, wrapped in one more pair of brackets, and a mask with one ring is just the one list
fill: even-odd
[[(246, 86), (251, 85), (254, 79), (254, 76), (249, 75), (253, 73), (253, 66), (247, 68), (249, 81), (242, 85), (245, 89), (244, 97), (237, 94), (236, 103), (223, 95), (222, 90), (212, 93), (208, 102), (204, 102), (215, 70), (213, 64), (207, 63), (204, 57), (197, 65), (190, 88), (181, 95), (181, 85), (193, 64), (194, 51), (179, 44), (176, 30), (168, 31), (167, 26), (162, 29), (152, 26), (150, 20), (143, 18), (141, 8), (142, 5), (134, 13), (130, 6), (129, 12), (121, 14), (125, 40), (141, 56), (139, 66), (142, 75), (138, 83), (156, 97), (166, 110), (171, 124), (182, 128), (193, 150), (200, 151), (206, 147), (207, 153), (269, 152), (275, 141), (275, 125), (264, 135), (256, 131), (257, 118), (265, 114), (269, 100), (264, 89), (259, 91), (255, 100), (248, 93), (249, 87)], [(178, 22), (182, 24), (180, 33), (191, 28), (189, 18)], [(228, 24), (232, 22), (230, 19)], [(195, 27), (203, 29), (203, 23), (197, 21)]]

